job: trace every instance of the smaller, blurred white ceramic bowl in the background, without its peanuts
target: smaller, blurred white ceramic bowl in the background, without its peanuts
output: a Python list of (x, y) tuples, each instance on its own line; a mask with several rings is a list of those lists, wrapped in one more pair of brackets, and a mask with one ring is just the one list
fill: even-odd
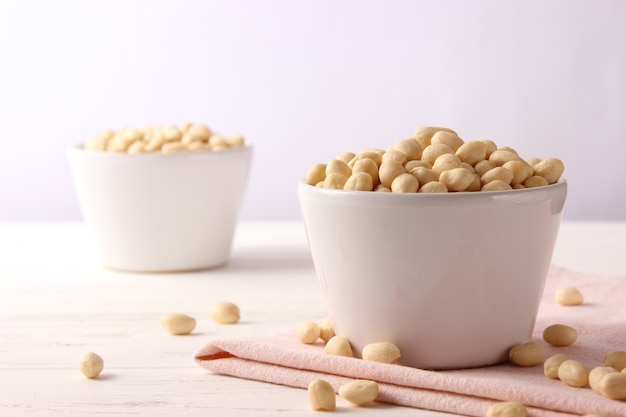
[(171, 272), (228, 262), (251, 146), (137, 155), (76, 146), (67, 156), (106, 267)]

